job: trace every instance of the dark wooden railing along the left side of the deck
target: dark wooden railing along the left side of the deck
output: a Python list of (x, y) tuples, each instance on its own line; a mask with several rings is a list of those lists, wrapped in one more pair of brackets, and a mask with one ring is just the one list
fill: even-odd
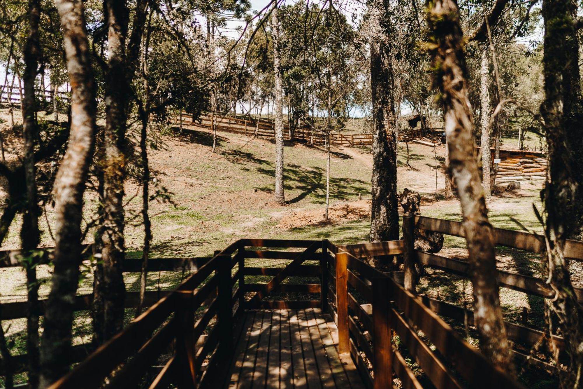
[[(231, 272), (239, 247), (237, 241), (217, 253), (51, 387), (127, 388), (144, 381), (149, 388), (170, 383), (215, 387), (214, 380), (224, 377), (219, 360), (230, 357), (233, 335), (242, 328), (237, 320), (243, 309), (237, 304), (242, 290), (233, 294), (238, 278)], [(147, 368), (168, 353), (164, 366), (147, 379)]]

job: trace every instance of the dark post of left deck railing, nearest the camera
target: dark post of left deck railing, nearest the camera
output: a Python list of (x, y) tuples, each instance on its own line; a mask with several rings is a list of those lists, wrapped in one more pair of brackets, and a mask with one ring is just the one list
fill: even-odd
[(192, 389), (196, 387), (193, 303), (194, 290), (178, 291), (176, 315), (180, 324), (180, 330), (176, 334), (178, 374), (175, 380), (180, 389)]

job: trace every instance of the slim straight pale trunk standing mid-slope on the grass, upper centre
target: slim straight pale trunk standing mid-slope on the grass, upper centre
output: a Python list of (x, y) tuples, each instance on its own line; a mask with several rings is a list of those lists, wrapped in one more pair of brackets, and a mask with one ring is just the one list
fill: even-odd
[(283, 190), (283, 82), (280, 68), (278, 2), (273, 2), (271, 13), (271, 37), (273, 40), (273, 78), (275, 79), (275, 201), (286, 203)]

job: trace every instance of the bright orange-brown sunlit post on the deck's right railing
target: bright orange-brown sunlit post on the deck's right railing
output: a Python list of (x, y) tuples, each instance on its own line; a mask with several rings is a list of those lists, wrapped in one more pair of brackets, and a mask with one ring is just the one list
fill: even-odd
[(348, 333), (348, 253), (336, 253), (336, 312), (338, 313), (338, 353), (350, 353)]

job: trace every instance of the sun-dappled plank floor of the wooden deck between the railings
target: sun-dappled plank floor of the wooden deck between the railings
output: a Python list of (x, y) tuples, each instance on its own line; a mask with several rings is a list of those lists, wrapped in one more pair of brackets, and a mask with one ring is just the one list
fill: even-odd
[(364, 388), (338, 329), (318, 308), (245, 313), (229, 388)]

